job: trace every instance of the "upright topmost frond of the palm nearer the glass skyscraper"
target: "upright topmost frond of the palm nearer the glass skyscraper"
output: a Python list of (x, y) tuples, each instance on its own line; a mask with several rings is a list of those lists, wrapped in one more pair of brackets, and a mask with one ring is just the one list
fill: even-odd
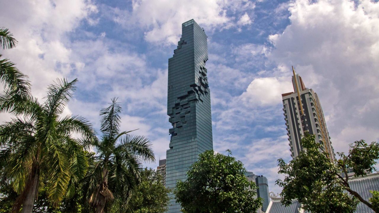
[(121, 105), (117, 103), (117, 99), (113, 98), (109, 107), (100, 110), (100, 131), (105, 138), (108, 138), (108, 143), (111, 138), (115, 138), (118, 135), (120, 127), (120, 115)]

